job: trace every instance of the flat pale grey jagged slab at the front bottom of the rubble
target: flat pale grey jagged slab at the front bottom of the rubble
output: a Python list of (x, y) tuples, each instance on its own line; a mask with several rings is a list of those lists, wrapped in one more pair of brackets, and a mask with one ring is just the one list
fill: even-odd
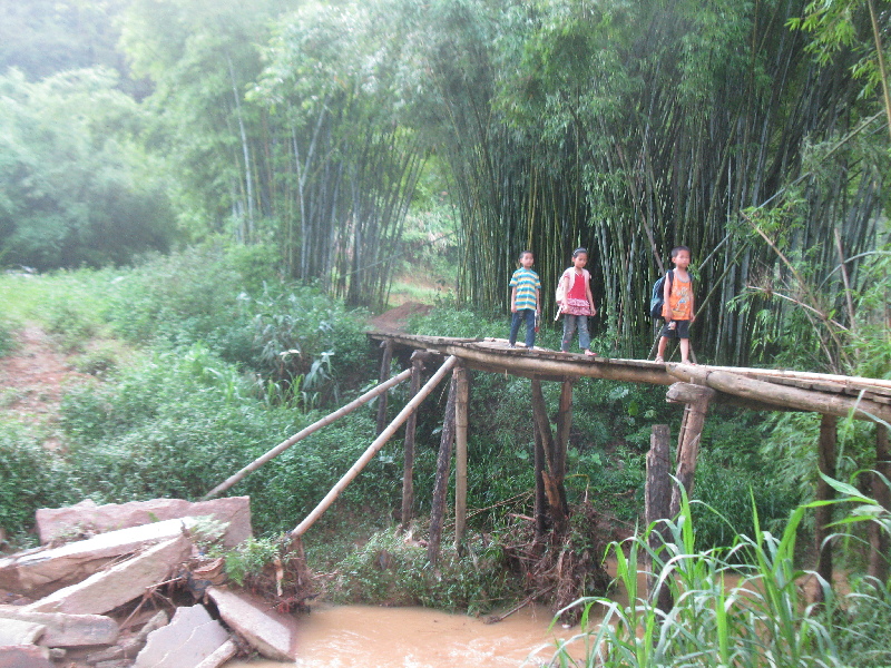
[(170, 623), (149, 635), (134, 668), (195, 668), (228, 640), (204, 606), (177, 608)]

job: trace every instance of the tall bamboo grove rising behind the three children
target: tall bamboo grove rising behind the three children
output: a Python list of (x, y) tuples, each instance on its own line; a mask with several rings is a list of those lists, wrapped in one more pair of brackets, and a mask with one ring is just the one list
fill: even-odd
[(650, 286), (684, 244), (702, 354), (770, 356), (811, 318), (816, 363), (844, 362), (832, 343), (888, 235), (888, 2), (108, 7), (193, 238), (273, 244), (291, 276), (381, 307), (435, 170), (460, 214), (460, 303), (505, 313), (530, 248), (552, 314), (582, 245), (599, 333), (645, 354)]

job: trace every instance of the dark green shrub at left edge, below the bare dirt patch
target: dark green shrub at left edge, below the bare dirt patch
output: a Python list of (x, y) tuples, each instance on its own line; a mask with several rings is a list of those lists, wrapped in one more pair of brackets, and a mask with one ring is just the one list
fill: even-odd
[(0, 422), (0, 528), (25, 542), (38, 508), (71, 503), (78, 490), (67, 466), (42, 445), (32, 428)]

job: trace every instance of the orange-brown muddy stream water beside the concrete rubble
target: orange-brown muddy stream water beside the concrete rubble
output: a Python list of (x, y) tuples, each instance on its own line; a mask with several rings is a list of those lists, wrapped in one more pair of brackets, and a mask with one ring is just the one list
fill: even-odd
[[(498, 623), (425, 608), (315, 606), (300, 617), (302, 668), (453, 668), (539, 666), (557, 638), (578, 628), (548, 630), (550, 612), (523, 609)], [(538, 659), (538, 660), (536, 660)], [(234, 661), (227, 668), (278, 668), (276, 661)]]

